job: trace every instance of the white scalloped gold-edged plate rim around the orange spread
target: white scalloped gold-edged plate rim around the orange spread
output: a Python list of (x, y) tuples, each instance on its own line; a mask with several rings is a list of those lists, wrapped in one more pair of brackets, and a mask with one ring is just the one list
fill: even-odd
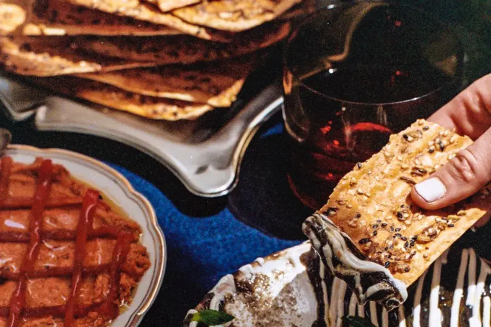
[(72, 176), (101, 190), (143, 229), (141, 243), (147, 248), (152, 266), (145, 272), (136, 288), (133, 301), (112, 326), (134, 327), (152, 305), (162, 283), (166, 264), (164, 235), (157, 223), (151, 204), (118, 171), (92, 158), (60, 149), (38, 149), (10, 145), (6, 155), (16, 162), (32, 163), (36, 157), (49, 158), (62, 164)]

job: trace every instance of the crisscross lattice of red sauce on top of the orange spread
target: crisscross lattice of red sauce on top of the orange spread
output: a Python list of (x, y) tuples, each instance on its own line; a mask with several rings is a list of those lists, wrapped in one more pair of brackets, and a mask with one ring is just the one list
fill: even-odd
[[(18, 261), (16, 261), (16, 264), (13, 267), (17, 267), (17, 269), (3, 267), (0, 270), (1, 277), (7, 278), (10, 281), (16, 281), (9, 304), (5, 307), (0, 307), (0, 316), (7, 317), (6, 326), (19, 327), (27, 322), (28, 319), (42, 316), (52, 316), (53, 319), (64, 318), (64, 327), (73, 327), (77, 325), (77, 319), (82, 319), (88, 316), (90, 312), (94, 313), (96, 316), (98, 315), (98, 322), (108, 323), (112, 319), (115, 319), (119, 315), (120, 301), (124, 301), (126, 299), (120, 299), (119, 287), (122, 273), (124, 272), (126, 274), (124, 277), (126, 278), (125, 280), (128, 280), (127, 278), (133, 278), (132, 280), (138, 281), (142, 272), (146, 270), (146, 268), (144, 268), (143, 271), (138, 272), (135, 270), (135, 268), (132, 268), (132, 265), (125, 265), (130, 249), (133, 249), (131, 250), (133, 251), (133, 255), (131, 257), (132, 259), (130, 258), (129, 260), (136, 260), (135, 251), (141, 251), (138, 250), (141, 249), (141, 247), (138, 248), (138, 245), (134, 243), (138, 240), (138, 232), (136, 232), (138, 229), (132, 229), (130, 227), (131, 225), (125, 225), (121, 222), (120, 224), (116, 222), (115, 225), (100, 225), (100, 222), (97, 222), (96, 225), (98, 225), (98, 227), (94, 228), (94, 217), (96, 210), (100, 210), (101, 208), (110, 210), (110, 208), (107, 204), (100, 200), (101, 198), (99, 191), (94, 189), (85, 189), (85, 187), (81, 192), (75, 193), (78, 200), (76, 198), (64, 198), (64, 194), (66, 194), (66, 192), (63, 193), (60, 191), (61, 177), (59, 175), (61, 169), (63, 168), (59, 165), (54, 165), (51, 160), (37, 160), (35, 168), (33, 168), (31, 172), (25, 173), (24, 175), (16, 175), (19, 171), (16, 164), (17, 163), (13, 163), (12, 159), (9, 157), (2, 157), (0, 159), (0, 208), (7, 211), (21, 210), (24, 212), (22, 215), (25, 215), (22, 216), (25, 217), (22, 219), (27, 219), (8, 220), (9, 224), (13, 223), (18, 225), (20, 221), (24, 224), (24, 227), (20, 225), (20, 227), (15, 227), (17, 230), (15, 230), (15, 228), (8, 227), (11, 230), (8, 230), (7, 228), (7, 230), (0, 231), (0, 243), (24, 243), (24, 248), (26, 249), (25, 254), (21, 254), (20, 257), (17, 257), (18, 259), (16, 259)], [(14, 177), (11, 177), (12, 171)], [(34, 179), (32, 179), (33, 176)], [(24, 183), (24, 181), (27, 180), (26, 178), (30, 179), (31, 183), (33, 182), (35, 184), (33, 196), (32, 193), (26, 197), (24, 195), (19, 196), (19, 183)], [(61, 200), (57, 199), (57, 197), (61, 197)], [(75, 230), (62, 228), (50, 230), (49, 228), (47, 229), (46, 225), (44, 225), (47, 221), (45, 221), (45, 219), (49, 219), (51, 217), (49, 216), (50, 205), (56, 205), (58, 202), (61, 203), (61, 206), (65, 206), (62, 208), (73, 208), (73, 206), (80, 208), (80, 211), (77, 213), (78, 217), (75, 216), (78, 218), (78, 221), (72, 220), (77, 221)], [(13, 206), (15, 208), (12, 209), (12, 204), (21, 205)], [(70, 210), (73, 212), (73, 209)], [(101, 212), (104, 212), (104, 210)], [(5, 219), (5, 221), (7, 221), (7, 219), (12, 219), (11, 216), (9, 216), (12, 215), (12, 213), (13, 212), (5, 213), (5, 218), (3, 219)], [(97, 215), (101, 214), (98, 213)], [(102, 219), (102, 221), (105, 221), (103, 216), (97, 217), (97, 219)], [(11, 226), (7, 225), (5, 221), (2, 220), (6, 226)], [(136, 227), (138, 228), (139, 226)], [(100, 240), (92, 241), (95, 238)], [(103, 263), (99, 262), (96, 266), (91, 264), (87, 266), (87, 262), (85, 262), (85, 260), (90, 258), (90, 254), (87, 253), (87, 246), (90, 244), (93, 246), (94, 244), (89, 243), (89, 241), (101, 242), (101, 240), (104, 239), (116, 239), (116, 241), (112, 241), (113, 244), (116, 243), (114, 244), (114, 248), (111, 250), (112, 252), (107, 252), (111, 253), (112, 257), (106, 257), (107, 261)], [(46, 241), (48, 240), (52, 240), (51, 243), (47, 243)], [(56, 243), (57, 241), (61, 242), (72, 240), (75, 241), (74, 248), (72, 247), (72, 250), (70, 250), (72, 251), (71, 256), (73, 258), (72, 266), (66, 265), (66, 258), (68, 257), (63, 259), (65, 260), (64, 266), (60, 265), (54, 268), (49, 266), (40, 266), (40, 263), (42, 263), (41, 258), (45, 258), (47, 255), (47, 246), (52, 246), (50, 244), (53, 242)], [(103, 244), (108, 243), (106, 241), (106, 243)], [(3, 246), (5, 246), (7, 249), (12, 249), (10, 245), (8, 245), (10, 247), (7, 247), (6, 244)], [(48, 254), (54, 255), (54, 252), (51, 252), (53, 250), (51, 250), (51, 248), (48, 249), (50, 249), (48, 250), (50, 251)], [(140, 256), (139, 258), (140, 260), (144, 260), (143, 265), (147, 265), (145, 257)], [(89, 262), (93, 262), (90, 261), (91, 259), (88, 260)], [(107, 288), (106, 292), (104, 292), (104, 297), (101, 298), (99, 302), (94, 302), (89, 305), (87, 305), (85, 302), (82, 303), (84, 296), (82, 284), (85, 282), (83, 280), (86, 280), (86, 277), (94, 278), (100, 276), (101, 274), (107, 276)], [(31, 282), (34, 281), (30, 280), (29, 278), (50, 278), (58, 276), (71, 276), (69, 293), (65, 293), (68, 294), (68, 296), (66, 296), (66, 303), (60, 304), (60, 302), (53, 302), (53, 305), (33, 306), (30, 302), (31, 297), (27, 293), (31, 290), (31, 286), (29, 285), (31, 285)], [(94, 321), (94, 324), (97, 325), (98, 323)]]

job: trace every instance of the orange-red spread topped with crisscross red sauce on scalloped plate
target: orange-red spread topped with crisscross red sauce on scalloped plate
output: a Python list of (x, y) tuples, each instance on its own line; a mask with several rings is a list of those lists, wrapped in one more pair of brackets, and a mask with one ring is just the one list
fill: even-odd
[(0, 160), (0, 327), (99, 327), (150, 267), (141, 227), (61, 165)]

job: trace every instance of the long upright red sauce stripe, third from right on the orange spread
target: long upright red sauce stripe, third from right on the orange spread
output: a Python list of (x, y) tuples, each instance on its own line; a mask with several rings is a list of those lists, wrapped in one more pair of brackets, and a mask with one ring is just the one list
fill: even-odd
[(36, 183), (36, 191), (32, 202), (31, 217), (29, 222), (29, 245), (27, 246), (26, 256), (24, 257), (24, 261), (20, 267), (20, 278), (17, 283), (17, 287), (13, 292), (12, 299), (10, 300), (10, 309), (8, 312), (7, 322), (8, 327), (16, 327), (19, 325), (19, 317), (25, 307), (25, 293), (28, 280), (27, 275), (34, 270), (34, 260), (39, 252), (42, 214), (50, 194), (52, 174), (53, 163), (51, 160), (43, 160), (39, 169), (39, 177)]

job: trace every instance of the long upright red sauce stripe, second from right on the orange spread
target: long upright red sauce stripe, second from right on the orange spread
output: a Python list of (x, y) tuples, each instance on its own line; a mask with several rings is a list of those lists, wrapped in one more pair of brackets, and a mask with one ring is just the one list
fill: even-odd
[(83, 272), (83, 260), (85, 258), (85, 244), (89, 231), (94, 222), (94, 213), (99, 201), (99, 192), (89, 189), (83, 199), (82, 210), (78, 218), (77, 232), (75, 236), (75, 256), (73, 259), (73, 274), (71, 279), (71, 292), (66, 304), (64, 327), (71, 327), (74, 323), (75, 301), (80, 290)]

